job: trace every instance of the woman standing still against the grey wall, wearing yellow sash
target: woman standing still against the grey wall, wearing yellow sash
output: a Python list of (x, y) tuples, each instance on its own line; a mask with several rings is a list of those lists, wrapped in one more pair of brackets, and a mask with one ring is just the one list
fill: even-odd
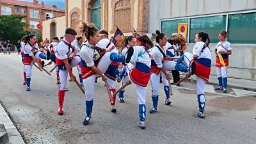
[(227, 31), (222, 31), (219, 34), (218, 44), (216, 45), (215, 54), (216, 54), (216, 70), (217, 77), (219, 81), (219, 87), (215, 90), (223, 90), (224, 93), (227, 93), (227, 66), (228, 66), (228, 56), (232, 54), (231, 44), (227, 42)]

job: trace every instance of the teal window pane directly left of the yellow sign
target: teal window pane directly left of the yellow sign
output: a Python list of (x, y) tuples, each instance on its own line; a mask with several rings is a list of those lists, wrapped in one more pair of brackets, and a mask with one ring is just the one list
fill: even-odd
[(166, 36), (168, 36), (168, 38), (170, 38), (172, 33), (178, 33), (179, 23), (188, 23), (188, 19), (162, 21), (162, 33), (164, 33)]

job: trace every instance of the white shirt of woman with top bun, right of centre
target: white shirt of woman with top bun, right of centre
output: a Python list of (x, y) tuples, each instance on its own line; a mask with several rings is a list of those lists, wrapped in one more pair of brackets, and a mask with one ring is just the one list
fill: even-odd
[[(160, 47), (159, 44), (156, 44), (156, 45), (158, 45)], [(164, 52), (163, 48), (160, 47), (160, 49)], [(151, 51), (151, 60), (155, 61), (158, 68), (162, 68), (163, 67), (163, 63), (162, 63), (163, 59), (164, 59), (164, 56), (161, 53), (161, 51), (159, 51), (159, 49), (156, 46), (154, 46), (154, 48)]]

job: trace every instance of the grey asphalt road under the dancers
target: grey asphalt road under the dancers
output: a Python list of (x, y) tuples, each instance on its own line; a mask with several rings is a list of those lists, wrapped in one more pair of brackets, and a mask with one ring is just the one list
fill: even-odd
[[(49, 66), (48, 69), (53, 66)], [(76, 72), (76, 70), (73, 70)], [(0, 54), (0, 100), (14, 120), (26, 143), (255, 143), (256, 97), (227, 97), (206, 93), (205, 119), (195, 116), (195, 91), (175, 88), (172, 105), (164, 105), (160, 90), (158, 113), (149, 114), (147, 93), (146, 129), (138, 127), (138, 102), (134, 86), (125, 92), (125, 103), (116, 102), (109, 111), (108, 93), (99, 79), (92, 121), (83, 125), (84, 96), (68, 83), (65, 114), (59, 116), (55, 72), (47, 76), (35, 67), (31, 92), (22, 85), (22, 63), (16, 53)], [(116, 84), (118, 86), (118, 84)]]

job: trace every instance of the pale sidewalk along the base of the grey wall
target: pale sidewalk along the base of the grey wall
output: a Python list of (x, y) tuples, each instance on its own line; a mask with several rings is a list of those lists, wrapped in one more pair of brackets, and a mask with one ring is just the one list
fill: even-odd
[[(183, 76), (181, 76), (183, 77)], [(191, 76), (189, 79), (191, 80), (196, 80), (195, 76)], [(208, 84), (216, 84), (218, 85), (218, 78), (216, 76), (210, 76), (210, 80)], [(250, 81), (246, 79), (234, 79), (228, 77), (228, 86), (233, 87), (233, 88), (239, 88), (242, 90), (249, 90), (256, 92), (256, 81)]]

